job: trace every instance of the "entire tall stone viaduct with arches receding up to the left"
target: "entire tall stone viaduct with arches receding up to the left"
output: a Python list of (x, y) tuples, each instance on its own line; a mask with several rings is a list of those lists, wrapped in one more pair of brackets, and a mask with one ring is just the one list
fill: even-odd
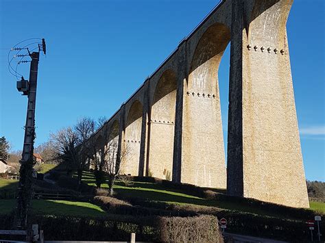
[[(309, 207), (286, 29), (292, 2), (221, 1), (92, 139), (118, 141), (118, 158), (128, 146), (126, 175)], [(229, 42), (226, 169), (218, 68)]]

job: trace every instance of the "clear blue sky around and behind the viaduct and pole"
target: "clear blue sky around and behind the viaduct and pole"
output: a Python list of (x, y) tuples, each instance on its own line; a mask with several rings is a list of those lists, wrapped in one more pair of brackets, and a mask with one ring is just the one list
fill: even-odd
[[(8, 72), (8, 48), (45, 38), (36, 145), (81, 116), (110, 117), (217, 1), (0, 0), (0, 136), (23, 145), (27, 98)], [(324, 0), (295, 0), (287, 31), (306, 178), (325, 181)], [(18, 71), (28, 78), (29, 64)], [(219, 68), (226, 141), (229, 47)]]

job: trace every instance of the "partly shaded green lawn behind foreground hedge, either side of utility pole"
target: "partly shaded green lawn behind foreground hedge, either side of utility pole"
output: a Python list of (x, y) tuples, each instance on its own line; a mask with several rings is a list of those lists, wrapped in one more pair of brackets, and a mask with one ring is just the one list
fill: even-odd
[[(9, 214), (16, 205), (14, 199), (0, 200), (0, 214)], [(56, 200), (32, 200), (32, 214), (56, 216), (86, 216), (102, 217), (106, 215), (103, 209), (91, 203)]]

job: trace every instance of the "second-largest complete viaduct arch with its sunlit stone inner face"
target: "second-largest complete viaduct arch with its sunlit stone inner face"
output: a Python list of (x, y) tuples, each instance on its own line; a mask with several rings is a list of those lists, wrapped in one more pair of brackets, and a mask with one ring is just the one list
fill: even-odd
[(147, 171), (161, 179), (171, 179), (173, 171), (176, 89), (176, 74), (165, 71), (156, 86), (150, 112)]

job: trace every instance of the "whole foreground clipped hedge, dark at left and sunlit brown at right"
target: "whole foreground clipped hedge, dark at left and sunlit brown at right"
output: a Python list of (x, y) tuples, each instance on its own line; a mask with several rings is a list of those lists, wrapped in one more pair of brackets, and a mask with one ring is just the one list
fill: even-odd
[[(10, 229), (12, 217), (1, 217), (0, 229)], [(197, 242), (222, 242), (217, 220), (213, 216), (163, 218), (115, 214), (101, 219), (30, 216), (29, 223), (40, 225), (45, 240), (129, 241), (130, 233), (134, 232), (136, 241), (173, 242), (176, 239), (179, 242), (177, 239), (187, 238)]]

